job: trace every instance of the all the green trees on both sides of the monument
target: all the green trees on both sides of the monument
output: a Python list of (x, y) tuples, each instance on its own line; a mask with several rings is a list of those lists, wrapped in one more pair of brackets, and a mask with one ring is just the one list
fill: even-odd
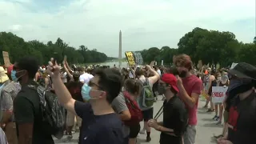
[[(46, 64), (50, 58), (57, 53), (58, 59), (66, 55), (70, 63), (106, 62), (115, 58), (107, 57), (106, 54), (98, 52), (97, 49), (88, 49), (82, 45), (78, 49), (69, 46), (58, 38), (56, 42), (39, 42), (33, 40), (25, 42), (23, 38), (12, 33), (0, 32), (0, 50), (9, 52), (10, 62), (15, 62), (26, 55), (34, 55), (40, 64)], [(229, 31), (206, 30), (199, 27), (186, 33), (178, 42), (178, 48), (162, 46), (162, 48), (151, 47), (141, 50), (143, 61), (146, 63), (152, 60), (170, 65), (174, 55), (188, 54), (198, 65), (202, 60), (203, 64), (230, 66), (232, 62), (248, 62), (256, 65), (256, 37), (254, 42), (238, 42), (235, 35)], [(0, 62), (3, 64), (2, 54)]]

